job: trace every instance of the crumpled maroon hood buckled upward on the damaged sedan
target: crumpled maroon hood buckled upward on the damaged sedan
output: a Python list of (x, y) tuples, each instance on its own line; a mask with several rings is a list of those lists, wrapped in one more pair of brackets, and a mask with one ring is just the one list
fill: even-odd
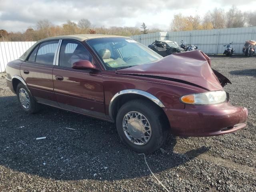
[(172, 54), (152, 63), (116, 70), (116, 73), (170, 78), (182, 83), (195, 84), (210, 91), (222, 90), (218, 78), (211, 69), (210, 59), (204, 55), (199, 50)]

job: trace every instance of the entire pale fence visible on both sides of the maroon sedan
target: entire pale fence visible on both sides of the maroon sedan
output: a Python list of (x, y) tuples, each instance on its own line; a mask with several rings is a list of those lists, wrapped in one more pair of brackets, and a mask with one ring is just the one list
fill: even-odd
[[(235, 54), (242, 54), (246, 40), (256, 40), (256, 27), (194, 30), (179, 32), (156, 32), (131, 36), (134, 40), (148, 46), (155, 40), (172, 40), (180, 44), (194, 44), (206, 54), (222, 54), (223, 45), (233, 42)], [(0, 42), (0, 72), (5, 71), (6, 64), (18, 59), (35, 42)]]

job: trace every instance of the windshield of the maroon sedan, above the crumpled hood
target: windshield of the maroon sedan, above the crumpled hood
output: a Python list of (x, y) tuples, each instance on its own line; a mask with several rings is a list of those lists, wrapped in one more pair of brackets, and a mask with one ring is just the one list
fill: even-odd
[(107, 70), (128, 68), (162, 58), (150, 48), (130, 38), (97, 38), (86, 42), (98, 54)]

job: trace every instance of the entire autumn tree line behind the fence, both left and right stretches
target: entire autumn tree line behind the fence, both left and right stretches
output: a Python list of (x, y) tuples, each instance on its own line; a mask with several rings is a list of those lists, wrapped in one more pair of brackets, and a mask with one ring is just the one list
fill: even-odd
[[(256, 11), (242, 12), (236, 6), (232, 6), (228, 11), (215, 8), (208, 11), (203, 17), (195, 14), (194, 16), (183, 16), (175, 14), (170, 24), (171, 31), (187, 30), (208, 30), (220, 28), (236, 28), (244, 26), (256, 26)], [(151, 32), (163, 31), (159, 28), (148, 29), (143, 23), (138, 27), (116, 27), (109, 28), (95, 27), (88, 19), (80, 19), (77, 23), (68, 20), (66, 23), (54, 25), (49, 20), (40, 20), (34, 27), (29, 27), (25, 32), (7, 32), (0, 30), (0, 41), (37, 41), (43, 38), (70, 35), (70, 34), (112, 34), (120, 36), (132, 36)]]

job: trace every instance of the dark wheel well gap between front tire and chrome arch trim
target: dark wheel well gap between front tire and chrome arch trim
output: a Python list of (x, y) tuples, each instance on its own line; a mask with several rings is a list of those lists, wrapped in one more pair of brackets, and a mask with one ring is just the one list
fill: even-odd
[(133, 93), (120, 95), (114, 100), (114, 103), (113, 103), (113, 106), (112, 106), (112, 117), (114, 118), (114, 121), (116, 121), (116, 115), (118, 113), (118, 110), (122, 107), (122, 105), (125, 104), (128, 101), (135, 100), (135, 99), (146, 100), (146, 101), (150, 102), (150, 104), (159, 108), (162, 111), (162, 115), (166, 119), (166, 123), (168, 123), (168, 125), (170, 126), (168, 118), (167, 118), (164, 110), (160, 106), (158, 106), (155, 102), (153, 102), (149, 98), (146, 98), (145, 96), (142, 96), (142, 95), (139, 95), (139, 94), (133, 94)]

